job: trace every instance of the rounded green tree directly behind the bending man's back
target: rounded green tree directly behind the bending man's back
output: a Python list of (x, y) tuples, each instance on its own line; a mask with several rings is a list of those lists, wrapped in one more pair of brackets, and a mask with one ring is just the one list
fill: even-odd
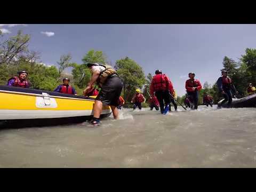
[(124, 99), (129, 102), (135, 93), (135, 89), (141, 89), (146, 82), (143, 70), (138, 63), (129, 57), (117, 60), (115, 69), (123, 82)]

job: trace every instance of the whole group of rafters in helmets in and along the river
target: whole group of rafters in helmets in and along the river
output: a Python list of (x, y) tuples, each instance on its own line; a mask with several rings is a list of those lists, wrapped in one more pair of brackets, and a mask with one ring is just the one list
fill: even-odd
[[(103, 104), (110, 106), (114, 118), (117, 119), (118, 109), (121, 109), (124, 106), (125, 101), (121, 97), (123, 83), (116, 73), (116, 70), (111, 66), (100, 65), (99, 63), (88, 63), (87, 67), (90, 69), (92, 76), (83, 93), (85, 96), (97, 95), (93, 106), (93, 118), (91, 119), (90, 124), (99, 125)], [(235, 95), (238, 92), (233, 81), (228, 76), (228, 71), (222, 70), (221, 75), (222, 76), (219, 77), (217, 81), (218, 89), (222, 93), (223, 98), (225, 98), (221, 102), (221, 105), (228, 102), (228, 107), (230, 107), (233, 94)], [(192, 109), (197, 109), (199, 90), (202, 89), (202, 85), (198, 79), (195, 79), (195, 73), (189, 73), (188, 77), (189, 79), (187, 79), (185, 83), (187, 94), (184, 104), (186, 108), (190, 107)], [(63, 78), (63, 84), (56, 87), (54, 91), (77, 95), (76, 90), (69, 85), (69, 82), (70, 80), (68, 78)], [(95, 89), (96, 86), (94, 86), (94, 84), (100, 87), (100, 91)], [(10, 78), (7, 85), (29, 88), (28, 73), (26, 71), (19, 71), (18, 76)], [(139, 89), (135, 92), (136, 93), (131, 101), (133, 103), (133, 109), (138, 107), (141, 110), (141, 103), (145, 102), (146, 98)], [(163, 74), (159, 69), (155, 71), (149, 92), (150, 93), (147, 93), (150, 97), (150, 110), (153, 110), (153, 108), (159, 110), (160, 108), (161, 114), (166, 114), (171, 110), (170, 103), (173, 103), (174, 109), (177, 110), (177, 94), (173, 89), (173, 84), (170, 78), (166, 74)], [(247, 93), (256, 93), (256, 89), (251, 83), (247, 87)], [(207, 107), (209, 105), (212, 107), (213, 98), (209, 93), (205, 93), (203, 102)]]

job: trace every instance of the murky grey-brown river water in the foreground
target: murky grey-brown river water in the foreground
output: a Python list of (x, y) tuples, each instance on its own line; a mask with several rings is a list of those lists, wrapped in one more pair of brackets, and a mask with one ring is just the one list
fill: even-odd
[(0, 167), (256, 167), (255, 108), (178, 110), (0, 130)]

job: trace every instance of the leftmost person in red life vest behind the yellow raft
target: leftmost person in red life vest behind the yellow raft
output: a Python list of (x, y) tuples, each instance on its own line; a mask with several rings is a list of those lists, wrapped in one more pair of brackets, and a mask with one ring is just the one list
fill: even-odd
[(12, 77), (8, 80), (7, 85), (9, 86), (17, 86), (23, 88), (29, 88), (29, 82), (27, 80), (28, 73), (26, 71), (19, 71), (18, 77)]

